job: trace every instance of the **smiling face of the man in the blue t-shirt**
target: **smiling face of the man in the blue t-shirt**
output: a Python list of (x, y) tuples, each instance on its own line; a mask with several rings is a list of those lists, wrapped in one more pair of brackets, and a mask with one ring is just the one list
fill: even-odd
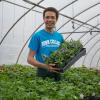
[(56, 14), (51, 11), (47, 11), (44, 16), (44, 23), (46, 29), (53, 29), (56, 24)]

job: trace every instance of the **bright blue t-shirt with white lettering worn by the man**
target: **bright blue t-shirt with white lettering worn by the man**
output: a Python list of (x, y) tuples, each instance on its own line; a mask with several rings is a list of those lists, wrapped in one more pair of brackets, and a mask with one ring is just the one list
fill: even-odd
[(63, 36), (60, 33), (49, 33), (43, 29), (33, 34), (29, 48), (36, 52), (36, 60), (44, 63), (45, 58), (57, 50), (63, 41)]

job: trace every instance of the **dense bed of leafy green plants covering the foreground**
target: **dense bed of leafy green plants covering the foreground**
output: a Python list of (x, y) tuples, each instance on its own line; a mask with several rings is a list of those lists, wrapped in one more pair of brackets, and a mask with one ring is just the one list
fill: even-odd
[(42, 79), (36, 69), (22, 65), (0, 67), (0, 100), (80, 100), (100, 96), (100, 73), (86, 67), (70, 68), (62, 80)]

